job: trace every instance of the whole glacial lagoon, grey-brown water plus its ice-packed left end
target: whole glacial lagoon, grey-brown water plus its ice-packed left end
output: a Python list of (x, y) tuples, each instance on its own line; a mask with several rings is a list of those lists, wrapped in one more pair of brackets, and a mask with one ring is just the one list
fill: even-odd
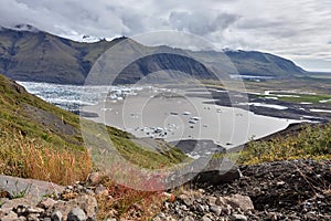
[[(185, 90), (153, 86), (73, 86), (21, 82), (32, 94), (63, 108), (96, 113), (92, 120), (137, 137), (211, 139), (231, 148), (282, 130), (299, 120), (256, 115), (213, 104), (211, 98), (186, 96)], [(203, 93), (203, 92), (196, 92)]]

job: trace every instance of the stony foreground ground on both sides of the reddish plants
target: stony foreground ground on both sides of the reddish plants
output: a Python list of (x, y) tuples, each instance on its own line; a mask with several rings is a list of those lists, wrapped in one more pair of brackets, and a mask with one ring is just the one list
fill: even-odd
[[(331, 161), (279, 161), (239, 169), (243, 176), (231, 183), (193, 183), (166, 192), (169, 199), (153, 221), (331, 220)], [(95, 197), (107, 193), (93, 180), (56, 190), (62, 193), (40, 199), (31, 194), (12, 199), (12, 193), (1, 190), (0, 220), (97, 220)]]

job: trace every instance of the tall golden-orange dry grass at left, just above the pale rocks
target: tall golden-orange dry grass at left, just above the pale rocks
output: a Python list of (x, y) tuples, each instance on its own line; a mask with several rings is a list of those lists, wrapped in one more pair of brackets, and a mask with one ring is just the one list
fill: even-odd
[(58, 150), (41, 140), (1, 136), (0, 173), (72, 185), (86, 179), (90, 169), (87, 150)]

